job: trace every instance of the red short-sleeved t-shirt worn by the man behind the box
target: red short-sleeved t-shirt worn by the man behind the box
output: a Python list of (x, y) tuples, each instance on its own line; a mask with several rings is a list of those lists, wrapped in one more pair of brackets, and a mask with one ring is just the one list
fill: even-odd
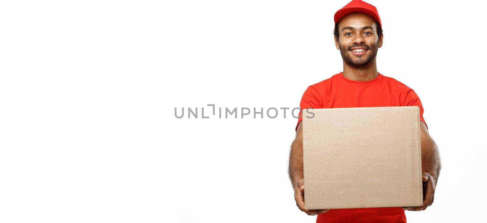
[[(418, 95), (403, 83), (380, 73), (369, 81), (350, 80), (345, 78), (342, 73), (335, 74), (326, 80), (309, 86), (300, 103), (301, 109), (391, 106), (419, 106), (420, 120), (426, 125), (423, 118), (423, 106)], [(301, 120), (300, 112), (296, 130)], [(406, 215), (401, 207), (331, 209), (326, 213), (319, 214), (316, 222), (405, 223)]]

